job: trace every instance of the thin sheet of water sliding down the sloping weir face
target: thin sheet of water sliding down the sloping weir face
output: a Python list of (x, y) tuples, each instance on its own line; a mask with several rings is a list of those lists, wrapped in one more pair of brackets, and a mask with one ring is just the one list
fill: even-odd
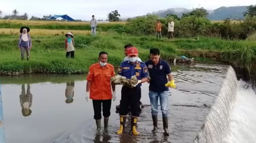
[(194, 143), (223, 143), (230, 132), (230, 112), (237, 97), (238, 81), (230, 66), (221, 90)]

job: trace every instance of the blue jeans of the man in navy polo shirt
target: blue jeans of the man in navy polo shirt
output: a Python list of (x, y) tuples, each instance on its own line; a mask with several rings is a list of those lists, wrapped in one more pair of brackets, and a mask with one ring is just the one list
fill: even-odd
[(154, 92), (149, 91), (149, 99), (151, 104), (151, 114), (152, 116), (156, 116), (158, 113), (158, 97), (160, 100), (160, 106), (162, 111), (162, 117), (168, 117), (168, 91), (163, 92)]

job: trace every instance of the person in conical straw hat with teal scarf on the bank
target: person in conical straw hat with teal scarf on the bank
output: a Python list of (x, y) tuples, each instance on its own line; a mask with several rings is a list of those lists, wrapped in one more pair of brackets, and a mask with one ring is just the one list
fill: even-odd
[(74, 49), (74, 35), (72, 32), (67, 32), (65, 34), (65, 50), (66, 50), (66, 58), (74, 58), (75, 57), (75, 49)]

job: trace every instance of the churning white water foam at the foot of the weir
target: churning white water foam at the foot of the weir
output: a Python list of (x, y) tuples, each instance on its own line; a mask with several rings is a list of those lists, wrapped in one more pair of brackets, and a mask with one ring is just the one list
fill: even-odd
[(256, 143), (256, 94), (244, 85), (243, 81), (239, 81), (230, 117), (230, 134), (224, 143)]

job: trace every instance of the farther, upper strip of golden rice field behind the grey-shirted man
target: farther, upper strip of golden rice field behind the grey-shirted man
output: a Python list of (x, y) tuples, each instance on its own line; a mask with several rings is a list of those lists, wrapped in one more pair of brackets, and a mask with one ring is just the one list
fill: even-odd
[[(90, 22), (64, 22), (64, 21), (37, 21), (37, 20), (0, 20), (0, 24), (23, 24), (23, 25), (85, 25), (90, 24)], [(98, 24), (126, 24), (126, 22), (108, 22), (108, 23), (98, 23)]]

